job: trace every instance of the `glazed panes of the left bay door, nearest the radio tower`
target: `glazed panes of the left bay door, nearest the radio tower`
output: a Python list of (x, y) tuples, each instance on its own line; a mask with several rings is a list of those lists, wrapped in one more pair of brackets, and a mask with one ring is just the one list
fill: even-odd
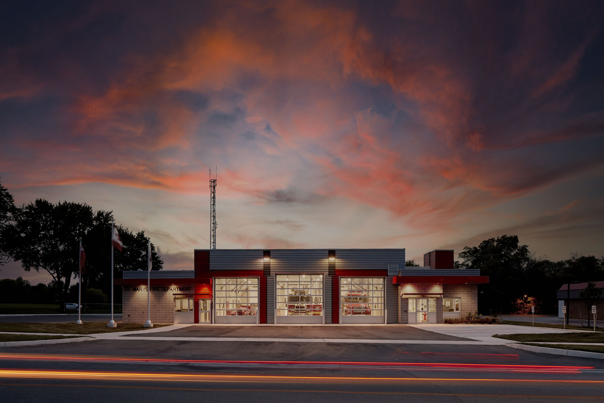
[(214, 305), (216, 316), (257, 315), (258, 279), (214, 279)]

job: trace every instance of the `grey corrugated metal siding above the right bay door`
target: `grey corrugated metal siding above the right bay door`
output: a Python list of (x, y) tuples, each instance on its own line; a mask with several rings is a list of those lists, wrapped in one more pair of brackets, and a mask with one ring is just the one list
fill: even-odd
[(405, 266), (404, 249), (336, 249), (336, 270), (382, 269)]

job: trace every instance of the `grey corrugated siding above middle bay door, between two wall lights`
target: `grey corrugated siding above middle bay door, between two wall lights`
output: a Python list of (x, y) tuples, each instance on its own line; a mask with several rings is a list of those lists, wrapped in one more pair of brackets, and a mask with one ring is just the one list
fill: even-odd
[(271, 273), (327, 273), (327, 249), (271, 250)]

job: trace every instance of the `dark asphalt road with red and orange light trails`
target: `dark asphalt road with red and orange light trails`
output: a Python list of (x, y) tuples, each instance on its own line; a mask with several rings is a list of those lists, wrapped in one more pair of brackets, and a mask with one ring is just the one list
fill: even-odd
[(1, 348), (0, 390), (3, 402), (604, 401), (604, 362), (506, 346), (98, 340)]

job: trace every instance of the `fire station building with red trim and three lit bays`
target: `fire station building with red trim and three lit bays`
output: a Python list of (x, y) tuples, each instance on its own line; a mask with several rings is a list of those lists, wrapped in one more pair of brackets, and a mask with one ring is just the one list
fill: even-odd
[[(404, 249), (195, 250), (194, 270), (150, 273), (153, 323), (442, 323), (477, 311), (488, 277), (452, 250), (405, 267)], [(124, 271), (123, 322), (147, 320), (147, 272)]]

